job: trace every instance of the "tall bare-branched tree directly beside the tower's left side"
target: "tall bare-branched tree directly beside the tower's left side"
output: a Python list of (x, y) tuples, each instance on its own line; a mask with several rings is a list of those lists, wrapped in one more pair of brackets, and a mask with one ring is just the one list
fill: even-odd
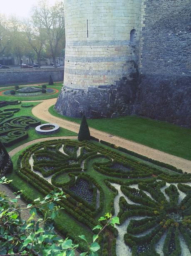
[(35, 25), (45, 28), (47, 42), (50, 46), (50, 53), (54, 66), (57, 68), (56, 53), (60, 40), (64, 37), (64, 4), (57, 2), (50, 7), (47, 0), (41, 0), (38, 6), (33, 8), (32, 19)]

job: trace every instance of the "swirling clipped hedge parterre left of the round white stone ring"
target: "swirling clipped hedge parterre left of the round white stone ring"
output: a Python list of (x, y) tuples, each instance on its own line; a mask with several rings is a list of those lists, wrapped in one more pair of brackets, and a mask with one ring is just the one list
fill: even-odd
[[(15, 112), (19, 111), (18, 109), (15, 110)], [(4, 111), (5, 112), (5, 111)], [(8, 117), (8, 113), (10, 113), (10, 116), (14, 113), (13, 112), (2, 112), (2, 117)], [(8, 114), (6, 116), (6, 114)], [(37, 125), (40, 125), (40, 121), (37, 121), (36, 119), (32, 117), (15, 117), (9, 120), (5, 120), (0, 124), (0, 137), (2, 143), (9, 147), (17, 142), (20, 142), (26, 138), (28, 138), (27, 129), (30, 127), (36, 127)]]

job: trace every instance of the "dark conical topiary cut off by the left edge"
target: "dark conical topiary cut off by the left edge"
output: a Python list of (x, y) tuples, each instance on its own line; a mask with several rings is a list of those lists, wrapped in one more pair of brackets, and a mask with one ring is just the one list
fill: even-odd
[(12, 161), (5, 146), (0, 141), (0, 177), (5, 176), (6, 173), (13, 169)]

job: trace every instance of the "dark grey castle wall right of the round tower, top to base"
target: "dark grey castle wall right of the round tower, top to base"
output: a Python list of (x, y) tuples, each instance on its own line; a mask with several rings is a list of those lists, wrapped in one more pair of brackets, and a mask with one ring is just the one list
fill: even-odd
[(189, 0), (144, 0), (140, 71), (132, 113), (191, 127)]

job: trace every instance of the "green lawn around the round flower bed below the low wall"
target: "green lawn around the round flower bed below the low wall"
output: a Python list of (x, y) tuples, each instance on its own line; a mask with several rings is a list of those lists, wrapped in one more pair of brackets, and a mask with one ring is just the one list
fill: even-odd
[[(28, 86), (28, 85), (27, 85)], [(54, 83), (54, 85), (48, 85), (46, 84), (47, 88), (52, 88), (52, 89), (57, 89), (59, 90), (59, 92), (55, 93), (55, 94), (43, 94), (43, 95), (39, 95), (39, 96), (17, 96), (15, 95), (1, 95), (0, 98), (1, 100), (18, 100), (18, 101), (32, 101), (32, 100), (43, 100), (43, 99), (53, 99), (53, 98), (57, 98), (59, 93), (60, 93), (60, 89), (62, 88), (62, 83)], [(26, 87), (26, 86), (20, 86), (20, 88), (22, 87)], [(38, 87), (38, 86), (37, 86)], [(11, 87), (3, 87), (0, 89), (0, 91), (4, 91), (6, 89), (15, 89), (14, 86)]]

